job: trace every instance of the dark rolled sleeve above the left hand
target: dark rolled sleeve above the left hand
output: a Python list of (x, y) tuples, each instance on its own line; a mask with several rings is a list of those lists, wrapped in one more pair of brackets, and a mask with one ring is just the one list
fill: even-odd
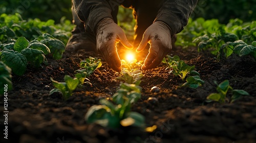
[(97, 24), (103, 18), (112, 18), (112, 8), (105, 0), (73, 0), (77, 16), (85, 23), (86, 31), (95, 34)]

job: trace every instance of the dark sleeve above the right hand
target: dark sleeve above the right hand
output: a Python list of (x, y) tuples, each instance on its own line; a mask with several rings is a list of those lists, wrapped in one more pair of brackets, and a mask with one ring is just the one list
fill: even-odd
[(172, 35), (183, 30), (198, 0), (165, 0), (158, 11), (155, 21), (165, 22), (172, 30)]

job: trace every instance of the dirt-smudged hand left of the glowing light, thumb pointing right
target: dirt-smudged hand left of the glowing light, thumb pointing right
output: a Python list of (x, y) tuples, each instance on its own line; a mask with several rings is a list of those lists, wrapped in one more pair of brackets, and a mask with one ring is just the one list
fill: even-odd
[(121, 60), (117, 54), (116, 44), (120, 41), (127, 49), (132, 49), (133, 45), (111, 18), (102, 19), (96, 32), (97, 51), (114, 70), (121, 71)]

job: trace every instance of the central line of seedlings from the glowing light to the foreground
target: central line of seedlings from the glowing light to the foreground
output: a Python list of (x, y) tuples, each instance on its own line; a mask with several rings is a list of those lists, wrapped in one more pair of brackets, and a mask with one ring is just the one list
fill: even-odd
[[(132, 106), (141, 98), (139, 86), (142, 71), (139, 69), (141, 62), (126, 62), (122, 60), (121, 80), (119, 89), (110, 98), (101, 99), (100, 105), (93, 105), (86, 114), (87, 123), (96, 123), (103, 127), (119, 128), (120, 126), (144, 127), (144, 116), (131, 111)], [(108, 98), (109, 99), (109, 98)]]

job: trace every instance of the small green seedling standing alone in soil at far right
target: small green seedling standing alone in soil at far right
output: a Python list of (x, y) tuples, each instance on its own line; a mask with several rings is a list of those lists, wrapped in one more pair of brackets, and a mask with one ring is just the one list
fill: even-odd
[(232, 94), (231, 103), (240, 99), (242, 96), (249, 96), (249, 93), (246, 92), (245, 90), (233, 89), (229, 85), (228, 80), (225, 80), (222, 83), (220, 83), (216, 89), (217, 89), (218, 93), (209, 94), (209, 96), (206, 98), (208, 101), (206, 101), (206, 102), (216, 101), (216, 102), (220, 102), (220, 103), (225, 103), (226, 101), (229, 101), (227, 99), (228, 91), (231, 91), (231, 94)]

